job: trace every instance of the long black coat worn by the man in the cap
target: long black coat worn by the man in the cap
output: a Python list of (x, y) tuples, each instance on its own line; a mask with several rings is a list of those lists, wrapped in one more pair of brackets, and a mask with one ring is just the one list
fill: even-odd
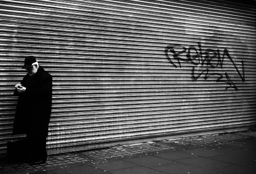
[(36, 74), (25, 75), (20, 82), (26, 91), (18, 96), (13, 135), (27, 134), (30, 136), (48, 135), (48, 127), (52, 110), (52, 76), (38, 68)]

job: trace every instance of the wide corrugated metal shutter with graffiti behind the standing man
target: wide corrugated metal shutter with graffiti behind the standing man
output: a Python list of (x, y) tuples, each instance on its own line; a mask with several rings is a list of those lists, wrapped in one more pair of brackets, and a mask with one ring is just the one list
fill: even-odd
[(28, 55), (53, 76), (49, 151), (248, 128), (255, 7), (225, 1), (1, 0), (0, 151)]

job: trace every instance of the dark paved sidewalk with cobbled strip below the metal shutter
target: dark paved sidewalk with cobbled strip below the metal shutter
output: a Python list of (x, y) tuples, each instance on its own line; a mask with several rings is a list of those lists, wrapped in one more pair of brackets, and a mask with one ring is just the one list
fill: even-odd
[(256, 130), (51, 155), (46, 164), (0, 162), (0, 173), (256, 173)]

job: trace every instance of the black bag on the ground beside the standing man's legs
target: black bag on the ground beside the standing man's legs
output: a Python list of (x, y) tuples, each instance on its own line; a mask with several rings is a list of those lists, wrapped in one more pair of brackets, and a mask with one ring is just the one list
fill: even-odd
[(7, 142), (7, 161), (9, 163), (24, 162), (28, 160), (27, 139)]

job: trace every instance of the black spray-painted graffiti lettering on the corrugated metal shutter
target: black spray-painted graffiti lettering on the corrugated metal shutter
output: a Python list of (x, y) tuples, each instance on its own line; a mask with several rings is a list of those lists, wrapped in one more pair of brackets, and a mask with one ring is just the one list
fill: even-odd
[[(210, 76), (219, 76), (217, 78), (217, 82), (225, 82), (227, 85), (226, 90), (228, 88), (233, 88), (235, 90), (238, 90), (236, 84), (233, 83), (231, 78), (229, 77), (228, 73), (225, 72), (225, 74), (221, 73), (210, 73), (210, 70), (215, 68), (223, 68), (223, 60), (227, 58), (229, 61), (231, 61), (233, 68), (238, 73), (241, 80), (245, 81), (245, 74), (244, 74), (244, 61), (241, 60), (242, 64), (242, 72), (238, 69), (236, 63), (233, 61), (232, 57), (229, 54), (229, 51), (224, 48), (223, 51), (220, 51), (219, 49), (213, 50), (213, 49), (206, 49), (202, 50), (200, 42), (198, 42), (198, 48), (194, 46), (190, 46), (188, 48), (185, 48), (184, 46), (181, 46), (179, 44), (177, 45), (170, 45), (167, 46), (164, 50), (166, 58), (169, 60), (169, 62), (175, 67), (178, 68), (178, 66), (181, 68), (181, 61), (190, 63), (193, 65), (191, 70), (191, 78), (192, 80), (196, 81), (199, 77), (201, 77), (203, 74), (205, 74), (204, 79), (207, 80)], [(182, 58), (181, 55), (183, 54)], [(184, 56), (184, 54), (186, 54)], [(174, 61), (178, 62), (175, 63)], [(199, 73), (197, 73), (196, 68), (199, 68)], [(224, 78), (225, 76), (225, 78)]]

